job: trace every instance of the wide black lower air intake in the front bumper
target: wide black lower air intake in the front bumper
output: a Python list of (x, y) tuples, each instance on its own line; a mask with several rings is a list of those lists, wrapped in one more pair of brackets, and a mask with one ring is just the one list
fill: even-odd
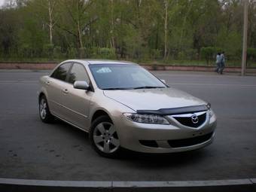
[(182, 147), (187, 147), (191, 145), (197, 145), (203, 142), (208, 141), (212, 137), (212, 133), (208, 133), (204, 136), (197, 136), (194, 138), (189, 138), (189, 139), (176, 139), (176, 140), (168, 140), (169, 145), (172, 148), (182, 148)]

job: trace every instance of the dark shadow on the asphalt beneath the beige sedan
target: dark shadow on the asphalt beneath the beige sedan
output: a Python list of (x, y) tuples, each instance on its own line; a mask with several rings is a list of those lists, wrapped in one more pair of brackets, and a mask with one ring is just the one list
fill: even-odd
[[(58, 125), (56, 127), (60, 127), (62, 131), (65, 130), (66, 132), (72, 133), (72, 135), (77, 137), (76, 139), (79, 139), (80, 142), (84, 142), (84, 145), (90, 145), (88, 133), (78, 130), (74, 126), (63, 122), (62, 120), (55, 120), (54, 123)], [(203, 161), (206, 157), (210, 156), (211, 154), (207, 148), (172, 154), (145, 154), (122, 149), (121, 153), (112, 160), (118, 161), (119, 163), (126, 163), (126, 165), (130, 166), (157, 169), (160, 167), (184, 166), (184, 164), (200, 163), (200, 161)], [(102, 160), (104, 160), (105, 157), (99, 156), (99, 158), (103, 158)]]

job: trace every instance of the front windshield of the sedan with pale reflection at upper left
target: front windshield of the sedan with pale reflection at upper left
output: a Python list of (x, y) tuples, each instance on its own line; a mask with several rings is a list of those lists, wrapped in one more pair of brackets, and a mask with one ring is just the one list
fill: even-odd
[(140, 66), (132, 64), (93, 64), (90, 71), (102, 90), (152, 89), (166, 87)]

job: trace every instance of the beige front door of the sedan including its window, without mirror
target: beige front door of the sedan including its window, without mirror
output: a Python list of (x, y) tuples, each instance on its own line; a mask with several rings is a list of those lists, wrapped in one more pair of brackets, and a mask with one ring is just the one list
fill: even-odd
[(62, 105), (65, 108), (64, 117), (76, 126), (88, 130), (90, 99), (93, 92), (90, 90), (78, 90), (73, 87), (75, 81), (87, 81), (87, 84), (90, 84), (85, 67), (80, 63), (73, 63), (67, 81), (69, 83), (63, 87), (66, 92), (62, 96)]

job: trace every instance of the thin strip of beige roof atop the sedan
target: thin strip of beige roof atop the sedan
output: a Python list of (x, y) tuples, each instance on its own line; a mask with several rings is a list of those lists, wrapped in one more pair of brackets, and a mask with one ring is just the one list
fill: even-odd
[(91, 64), (132, 64), (132, 65), (138, 65), (135, 62), (109, 60), (109, 59), (69, 59), (69, 60), (66, 60), (64, 62), (82, 62), (82, 63), (84, 63), (84, 65), (91, 65)]

